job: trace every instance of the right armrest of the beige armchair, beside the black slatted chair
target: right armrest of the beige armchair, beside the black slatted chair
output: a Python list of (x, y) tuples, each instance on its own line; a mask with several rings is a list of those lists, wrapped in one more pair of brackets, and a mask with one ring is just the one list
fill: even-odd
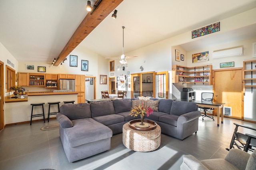
[(225, 160), (236, 166), (238, 169), (245, 169), (250, 154), (240, 149), (230, 149)]

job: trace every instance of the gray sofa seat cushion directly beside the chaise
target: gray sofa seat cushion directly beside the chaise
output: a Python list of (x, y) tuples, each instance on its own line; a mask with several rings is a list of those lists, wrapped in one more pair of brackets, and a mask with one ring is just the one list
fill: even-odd
[(97, 116), (97, 117), (93, 117), (93, 119), (95, 119), (96, 121), (106, 126), (112, 125), (115, 123), (124, 122), (124, 117), (116, 114)]

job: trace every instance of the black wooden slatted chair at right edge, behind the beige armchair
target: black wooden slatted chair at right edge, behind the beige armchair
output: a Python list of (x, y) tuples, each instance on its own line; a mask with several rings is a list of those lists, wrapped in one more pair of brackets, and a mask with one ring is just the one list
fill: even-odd
[(254, 133), (256, 132), (256, 129), (253, 128), (253, 127), (249, 127), (249, 126), (246, 126), (246, 125), (241, 125), (241, 124), (238, 124), (238, 123), (234, 123), (234, 125), (236, 125), (236, 127), (235, 127), (235, 130), (234, 130), (234, 133), (233, 133), (233, 137), (232, 137), (232, 140), (231, 140), (231, 143), (230, 143), (230, 147), (226, 148), (226, 150), (230, 150), (232, 148), (235, 148), (234, 145), (236, 145), (236, 147), (238, 149), (244, 148), (243, 150), (245, 152), (248, 152), (248, 150), (253, 152), (256, 149), (256, 136), (250, 135), (248, 133), (245, 133), (245, 134), (240, 133), (240, 132), (238, 132), (238, 127), (243, 127), (243, 128), (246, 128), (246, 129), (254, 130)]

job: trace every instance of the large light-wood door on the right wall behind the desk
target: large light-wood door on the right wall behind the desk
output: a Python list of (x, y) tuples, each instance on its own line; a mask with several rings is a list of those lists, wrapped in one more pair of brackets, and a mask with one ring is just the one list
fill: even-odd
[(231, 116), (243, 119), (243, 81), (242, 68), (214, 70), (214, 102), (225, 103), (231, 107)]

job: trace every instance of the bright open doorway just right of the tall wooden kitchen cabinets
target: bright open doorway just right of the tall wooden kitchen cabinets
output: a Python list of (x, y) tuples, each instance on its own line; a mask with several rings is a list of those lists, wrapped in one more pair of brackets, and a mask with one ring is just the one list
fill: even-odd
[(96, 99), (96, 77), (85, 77), (85, 99)]

